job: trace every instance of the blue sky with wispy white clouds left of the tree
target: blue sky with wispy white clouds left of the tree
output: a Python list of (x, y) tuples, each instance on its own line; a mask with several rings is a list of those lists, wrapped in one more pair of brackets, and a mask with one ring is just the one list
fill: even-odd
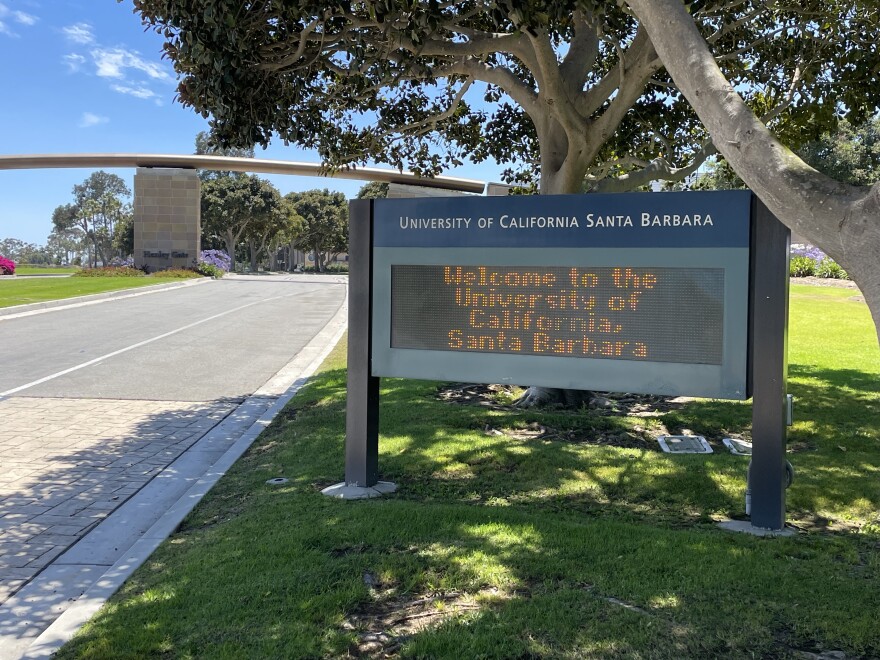
[[(193, 152), (207, 122), (174, 101), (176, 76), (162, 39), (145, 32), (131, 2), (0, 0), (0, 154)], [(317, 163), (280, 142), (258, 158)], [(132, 185), (134, 170), (108, 169)], [(495, 166), (452, 176), (498, 181)], [(92, 170), (0, 170), (0, 238), (44, 244), (52, 211), (73, 201)], [(357, 181), (266, 176), (282, 194), (329, 188), (352, 197)]]

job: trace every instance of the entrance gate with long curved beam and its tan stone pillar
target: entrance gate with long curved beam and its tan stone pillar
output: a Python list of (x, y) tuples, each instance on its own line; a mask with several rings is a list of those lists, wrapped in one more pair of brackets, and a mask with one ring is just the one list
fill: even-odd
[(136, 169), (134, 185), (134, 259), (138, 267), (187, 266), (200, 249), (199, 179), (195, 170), (324, 176), (409, 184), (483, 194), (486, 184), (473, 179), (420, 177), (412, 172), (373, 167), (327, 170), (312, 163), (176, 154), (29, 154), (0, 156), (0, 170), (47, 168)]

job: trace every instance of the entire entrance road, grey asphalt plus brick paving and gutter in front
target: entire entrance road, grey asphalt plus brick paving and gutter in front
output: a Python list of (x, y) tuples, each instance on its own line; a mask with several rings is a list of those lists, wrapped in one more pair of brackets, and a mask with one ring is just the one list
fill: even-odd
[(0, 316), (0, 657), (270, 410), (345, 295), (341, 278), (238, 277)]

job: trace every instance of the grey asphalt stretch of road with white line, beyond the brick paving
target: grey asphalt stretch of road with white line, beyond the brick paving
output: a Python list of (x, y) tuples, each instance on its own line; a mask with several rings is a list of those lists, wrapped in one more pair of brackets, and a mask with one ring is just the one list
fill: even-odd
[(339, 277), (239, 276), (0, 318), (0, 397), (240, 400), (344, 299)]

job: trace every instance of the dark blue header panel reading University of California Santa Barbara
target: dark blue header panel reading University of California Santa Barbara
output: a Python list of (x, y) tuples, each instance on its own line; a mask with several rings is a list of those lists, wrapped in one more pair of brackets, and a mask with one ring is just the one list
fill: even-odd
[(376, 247), (743, 247), (751, 193), (377, 199)]

